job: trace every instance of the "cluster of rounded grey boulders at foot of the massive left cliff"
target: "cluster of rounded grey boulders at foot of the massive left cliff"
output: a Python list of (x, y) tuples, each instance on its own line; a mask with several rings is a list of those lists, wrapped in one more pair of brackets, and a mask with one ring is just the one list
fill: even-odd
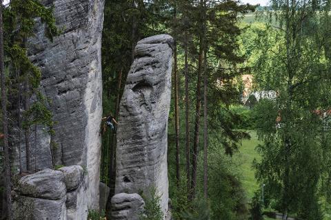
[(14, 219), (77, 220), (88, 217), (81, 166), (46, 169), (21, 177), (14, 194)]

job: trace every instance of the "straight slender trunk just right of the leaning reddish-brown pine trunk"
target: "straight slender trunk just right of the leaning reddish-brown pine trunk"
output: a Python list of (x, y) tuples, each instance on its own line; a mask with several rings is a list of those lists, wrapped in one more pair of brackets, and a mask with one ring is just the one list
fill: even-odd
[(208, 197), (208, 109), (207, 109), (207, 50), (205, 48), (203, 65), (203, 195)]

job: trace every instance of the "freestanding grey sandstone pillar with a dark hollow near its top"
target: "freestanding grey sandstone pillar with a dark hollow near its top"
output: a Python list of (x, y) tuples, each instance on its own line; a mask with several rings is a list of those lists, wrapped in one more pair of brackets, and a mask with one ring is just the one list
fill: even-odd
[(121, 99), (117, 130), (115, 194), (143, 190), (148, 195), (155, 188), (163, 212), (168, 210), (172, 47), (172, 37), (165, 34), (138, 42)]

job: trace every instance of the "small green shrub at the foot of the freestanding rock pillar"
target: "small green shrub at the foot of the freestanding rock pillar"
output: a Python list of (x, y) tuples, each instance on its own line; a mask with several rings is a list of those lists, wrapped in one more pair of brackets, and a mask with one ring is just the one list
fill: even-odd
[(157, 195), (155, 188), (150, 188), (149, 192), (143, 192), (141, 197), (145, 201), (145, 207), (140, 214), (140, 220), (162, 220), (163, 212), (161, 210), (161, 196)]

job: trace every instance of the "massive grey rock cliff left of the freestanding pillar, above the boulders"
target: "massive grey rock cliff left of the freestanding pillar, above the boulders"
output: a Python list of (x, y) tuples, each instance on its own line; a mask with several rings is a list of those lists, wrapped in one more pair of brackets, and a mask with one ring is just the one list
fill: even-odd
[[(31, 135), (32, 167), (80, 165), (86, 170), (85, 193), (89, 208), (99, 207), (99, 164), (102, 116), (101, 32), (104, 0), (43, 0), (54, 7), (57, 26), (63, 30), (50, 42), (39, 21), (29, 40), (28, 55), (41, 68), (41, 90), (52, 100), (54, 135), (37, 127)], [(25, 158), (25, 144), (21, 155)], [(26, 164), (23, 161), (23, 166)], [(68, 197), (74, 195), (68, 195)], [(83, 205), (85, 206), (85, 205)]]

